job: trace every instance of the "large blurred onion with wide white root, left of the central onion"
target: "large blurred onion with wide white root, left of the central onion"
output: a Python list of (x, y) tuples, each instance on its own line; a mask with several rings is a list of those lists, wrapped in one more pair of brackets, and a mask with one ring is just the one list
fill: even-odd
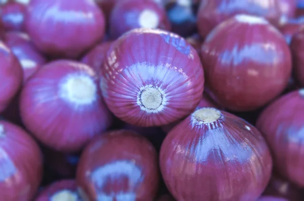
[(20, 114), (45, 145), (75, 152), (110, 124), (110, 115), (89, 66), (60, 60), (43, 66), (24, 85)]

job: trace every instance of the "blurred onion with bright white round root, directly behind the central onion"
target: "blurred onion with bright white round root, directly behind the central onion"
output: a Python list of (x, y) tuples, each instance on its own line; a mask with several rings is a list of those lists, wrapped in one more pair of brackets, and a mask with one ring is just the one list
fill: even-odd
[(112, 39), (135, 28), (170, 30), (165, 10), (154, 1), (119, 1), (110, 16), (109, 32)]

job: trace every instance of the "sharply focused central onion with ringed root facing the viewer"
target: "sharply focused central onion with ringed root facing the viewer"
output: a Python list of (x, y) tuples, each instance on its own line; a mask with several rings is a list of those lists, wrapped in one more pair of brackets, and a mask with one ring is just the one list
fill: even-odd
[(134, 29), (112, 44), (101, 89), (108, 108), (136, 126), (160, 126), (191, 113), (204, 89), (195, 49), (176, 34)]

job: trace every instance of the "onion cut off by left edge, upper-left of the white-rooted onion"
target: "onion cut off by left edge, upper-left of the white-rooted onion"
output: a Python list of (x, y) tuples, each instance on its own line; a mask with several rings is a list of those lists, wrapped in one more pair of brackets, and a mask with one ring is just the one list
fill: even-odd
[(18, 92), (23, 79), (22, 68), (11, 49), (0, 41), (0, 112)]

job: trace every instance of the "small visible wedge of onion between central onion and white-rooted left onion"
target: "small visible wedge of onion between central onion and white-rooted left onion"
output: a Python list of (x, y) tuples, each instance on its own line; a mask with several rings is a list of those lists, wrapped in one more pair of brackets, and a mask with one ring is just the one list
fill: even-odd
[(99, 73), (105, 54), (111, 46), (112, 42), (107, 41), (96, 45), (81, 60), (81, 62), (91, 66), (95, 72)]

